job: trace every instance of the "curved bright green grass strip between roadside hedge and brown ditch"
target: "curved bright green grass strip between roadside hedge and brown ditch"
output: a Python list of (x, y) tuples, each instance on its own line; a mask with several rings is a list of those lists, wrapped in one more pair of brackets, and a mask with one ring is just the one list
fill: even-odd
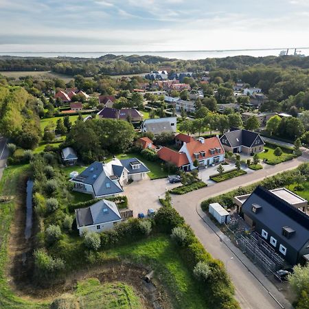
[(124, 247), (111, 249), (109, 256), (129, 258), (155, 271), (168, 287), (174, 308), (207, 308), (205, 297), (198, 290), (192, 272), (176, 254), (176, 245), (167, 236), (151, 237)]

